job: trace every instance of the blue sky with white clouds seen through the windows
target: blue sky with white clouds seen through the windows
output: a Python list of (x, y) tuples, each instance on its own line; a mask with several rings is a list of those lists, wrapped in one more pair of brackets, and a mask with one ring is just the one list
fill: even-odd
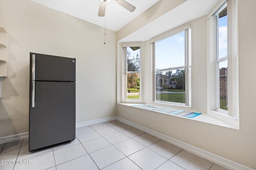
[[(193, 38), (193, 37), (192, 37)], [(156, 69), (178, 67), (185, 65), (185, 33), (177, 33), (171, 37), (155, 43)], [(130, 47), (127, 50), (132, 56), (140, 55), (140, 49), (133, 51)], [(227, 16), (219, 19), (219, 58), (227, 55)], [(220, 63), (220, 68), (227, 67), (227, 61)], [(173, 73), (176, 70), (172, 71)]]

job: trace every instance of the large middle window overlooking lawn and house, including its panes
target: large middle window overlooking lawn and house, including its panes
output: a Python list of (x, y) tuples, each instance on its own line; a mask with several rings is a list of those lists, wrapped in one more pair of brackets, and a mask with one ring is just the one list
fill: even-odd
[(190, 25), (152, 40), (154, 101), (191, 106)]

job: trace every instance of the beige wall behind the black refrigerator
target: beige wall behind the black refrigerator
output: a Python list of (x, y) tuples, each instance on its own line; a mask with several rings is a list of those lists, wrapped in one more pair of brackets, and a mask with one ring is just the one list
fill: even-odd
[[(85, 14), (86, 15), (86, 14)], [(116, 33), (29, 0), (1, 0), (9, 33), (0, 137), (28, 132), (29, 53), (76, 58), (76, 122), (116, 115)]]

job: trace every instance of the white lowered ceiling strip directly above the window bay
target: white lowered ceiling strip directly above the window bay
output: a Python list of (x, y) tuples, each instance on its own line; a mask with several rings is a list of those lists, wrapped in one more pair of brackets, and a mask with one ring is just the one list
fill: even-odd
[(218, 0), (187, 0), (144, 27), (118, 40), (118, 42), (147, 41), (166, 31), (207, 15), (217, 2)]

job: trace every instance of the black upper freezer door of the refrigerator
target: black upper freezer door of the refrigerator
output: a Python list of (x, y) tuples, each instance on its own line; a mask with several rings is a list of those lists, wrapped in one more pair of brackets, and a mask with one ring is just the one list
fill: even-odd
[[(32, 60), (33, 56), (35, 62)], [(30, 53), (30, 81), (33, 79), (35, 81), (75, 82), (76, 59)]]

